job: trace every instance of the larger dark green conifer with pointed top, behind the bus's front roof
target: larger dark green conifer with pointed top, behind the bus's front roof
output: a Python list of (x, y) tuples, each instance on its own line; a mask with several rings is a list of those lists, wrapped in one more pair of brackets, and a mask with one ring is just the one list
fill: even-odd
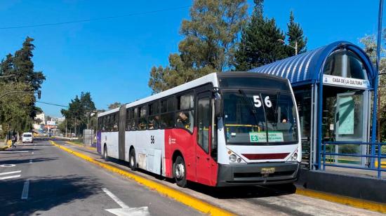
[(251, 19), (241, 31), (241, 41), (237, 48), (234, 67), (246, 71), (288, 57), (287, 48), (279, 43), (285, 35), (277, 27), (274, 18), (264, 18), (263, 0), (255, 0)]

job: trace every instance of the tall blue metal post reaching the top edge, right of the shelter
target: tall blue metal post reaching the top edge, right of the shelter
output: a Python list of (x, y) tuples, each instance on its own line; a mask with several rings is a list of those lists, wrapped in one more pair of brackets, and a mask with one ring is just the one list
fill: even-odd
[[(379, 63), (380, 63), (380, 41), (382, 38), (382, 12), (383, 12), (383, 0), (379, 1), (378, 12), (378, 36), (377, 36), (377, 62), (375, 64), (375, 77), (374, 77), (374, 101), (373, 101), (373, 118), (371, 126), (371, 142), (375, 143), (375, 136), (377, 133), (377, 99), (378, 99), (378, 76), (379, 76)], [(378, 149), (380, 151), (380, 149)], [(375, 144), (371, 147), (371, 156), (375, 156)], [(371, 158), (371, 168), (374, 168), (374, 158)]]

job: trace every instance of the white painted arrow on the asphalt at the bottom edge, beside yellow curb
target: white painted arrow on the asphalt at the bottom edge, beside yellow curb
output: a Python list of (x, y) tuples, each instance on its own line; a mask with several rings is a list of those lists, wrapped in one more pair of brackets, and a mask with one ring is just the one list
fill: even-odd
[(128, 216), (128, 215), (150, 215), (149, 208), (147, 206), (144, 207), (138, 207), (138, 208), (130, 208), (128, 205), (126, 205), (123, 201), (121, 201), (117, 196), (112, 194), (107, 188), (102, 188), (102, 190), (110, 197), (112, 198), (121, 208), (112, 208), (112, 209), (105, 209), (108, 212), (118, 215), (118, 216)]

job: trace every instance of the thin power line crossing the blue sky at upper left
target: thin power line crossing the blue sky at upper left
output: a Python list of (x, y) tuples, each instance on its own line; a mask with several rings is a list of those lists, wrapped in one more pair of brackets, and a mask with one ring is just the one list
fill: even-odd
[(181, 6), (181, 7), (175, 7), (175, 8), (161, 9), (161, 10), (157, 10), (157, 11), (145, 11), (145, 12), (138, 12), (138, 13), (129, 13), (126, 15), (115, 15), (115, 16), (103, 17), (103, 18), (72, 20), (72, 21), (67, 21), (67, 22), (42, 23), (42, 24), (36, 24), (36, 25), (20, 25), (20, 26), (11, 26), (11, 27), (0, 27), (0, 29), (22, 29), (22, 28), (30, 28), (30, 27), (46, 27), (46, 26), (55, 26), (55, 25), (67, 25), (67, 24), (72, 24), (72, 23), (91, 22), (91, 21), (97, 21), (97, 20), (111, 20), (111, 19), (116, 19), (116, 18), (131, 17), (131, 16), (135, 16), (135, 15), (146, 15), (146, 14), (152, 14), (152, 13), (165, 12), (165, 11), (175, 11), (175, 10), (180, 10), (183, 8), (190, 8), (190, 7), (191, 6)]

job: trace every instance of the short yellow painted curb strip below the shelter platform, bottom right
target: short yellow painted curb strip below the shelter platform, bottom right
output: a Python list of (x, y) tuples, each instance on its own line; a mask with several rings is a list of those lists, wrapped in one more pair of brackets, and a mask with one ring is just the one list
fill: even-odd
[(350, 205), (356, 208), (364, 208), (375, 212), (386, 213), (386, 204), (375, 203), (371, 201), (364, 201), (359, 198), (351, 198), (347, 196), (340, 196), (340, 195), (328, 194), (320, 191), (314, 191), (310, 189), (299, 189), (299, 188), (296, 189), (296, 194), (300, 194), (302, 196), (320, 198), (326, 201), (331, 201), (334, 203), (340, 203), (344, 205)]

